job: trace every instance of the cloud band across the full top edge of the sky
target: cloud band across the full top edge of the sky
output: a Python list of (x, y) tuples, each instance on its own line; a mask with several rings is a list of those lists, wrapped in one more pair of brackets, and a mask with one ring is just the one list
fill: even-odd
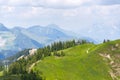
[(76, 8), (89, 5), (117, 5), (120, 0), (0, 0), (2, 6)]

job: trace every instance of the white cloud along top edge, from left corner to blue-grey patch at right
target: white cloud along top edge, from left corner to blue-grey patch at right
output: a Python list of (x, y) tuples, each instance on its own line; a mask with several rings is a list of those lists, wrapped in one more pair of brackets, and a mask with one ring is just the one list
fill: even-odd
[(0, 5), (4, 6), (30, 6), (46, 8), (76, 8), (86, 3), (91, 4), (92, 0), (1, 0)]

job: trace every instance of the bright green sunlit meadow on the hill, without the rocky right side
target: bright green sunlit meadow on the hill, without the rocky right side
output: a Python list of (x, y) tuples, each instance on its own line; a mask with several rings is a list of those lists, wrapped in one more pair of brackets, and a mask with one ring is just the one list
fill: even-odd
[(34, 71), (42, 72), (46, 80), (112, 80), (109, 66), (94, 52), (99, 46), (85, 44), (63, 50), (66, 56), (47, 57)]

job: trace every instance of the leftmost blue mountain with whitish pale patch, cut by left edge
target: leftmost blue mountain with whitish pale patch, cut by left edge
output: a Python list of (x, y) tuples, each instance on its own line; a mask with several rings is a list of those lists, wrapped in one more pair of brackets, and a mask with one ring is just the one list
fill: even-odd
[(0, 24), (0, 59), (16, 53), (14, 46), (15, 35), (3, 24)]

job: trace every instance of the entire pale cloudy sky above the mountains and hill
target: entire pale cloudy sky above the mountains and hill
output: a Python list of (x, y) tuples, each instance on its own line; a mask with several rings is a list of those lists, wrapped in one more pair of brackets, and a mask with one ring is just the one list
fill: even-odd
[(7, 27), (57, 24), (93, 39), (120, 38), (120, 0), (0, 0)]

